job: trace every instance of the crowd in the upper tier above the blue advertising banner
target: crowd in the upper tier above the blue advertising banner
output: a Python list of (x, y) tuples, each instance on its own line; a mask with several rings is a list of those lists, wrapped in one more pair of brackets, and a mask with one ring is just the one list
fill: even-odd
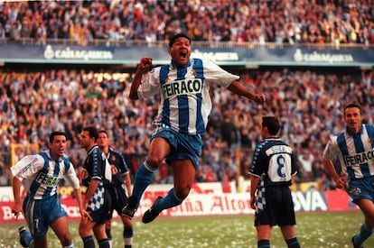
[(79, 44), (193, 41), (374, 44), (373, 3), (364, 1), (1, 1), (0, 39)]

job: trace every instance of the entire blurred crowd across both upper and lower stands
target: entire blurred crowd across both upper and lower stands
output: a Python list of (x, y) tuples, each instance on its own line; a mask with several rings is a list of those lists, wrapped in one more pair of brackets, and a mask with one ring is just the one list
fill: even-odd
[[(167, 41), (186, 32), (193, 41), (276, 43), (374, 43), (372, 1), (29, 1), (0, 3), (0, 39), (86, 41)], [(139, 58), (140, 60), (140, 58)], [(261, 140), (261, 115), (281, 118), (281, 137), (298, 158), (299, 182), (334, 188), (321, 154), (330, 135), (344, 124), (342, 107), (364, 108), (373, 123), (372, 69), (261, 68), (238, 71), (240, 81), (266, 93), (257, 106), (248, 99), (211, 88), (213, 103), (203, 137), (196, 181), (247, 178), (251, 149)], [(79, 147), (82, 126), (106, 128), (135, 175), (145, 159), (158, 99), (130, 101), (134, 71), (75, 68), (0, 69), (0, 185), (10, 185), (12, 143), (48, 148), (52, 130), (68, 133), (67, 153), (79, 170), (86, 152)], [(238, 152), (239, 151), (239, 152)], [(14, 151), (17, 158), (25, 151)], [(166, 164), (154, 182), (171, 183)]]

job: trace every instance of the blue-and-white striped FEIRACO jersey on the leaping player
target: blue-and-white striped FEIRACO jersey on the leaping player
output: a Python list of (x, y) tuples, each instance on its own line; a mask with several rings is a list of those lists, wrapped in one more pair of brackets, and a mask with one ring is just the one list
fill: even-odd
[(160, 93), (154, 122), (195, 135), (205, 133), (211, 110), (210, 86), (229, 87), (238, 78), (210, 60), (191, 59), (182, 68), (172, 62), (145, 74), (137, 95), (145, 99)]

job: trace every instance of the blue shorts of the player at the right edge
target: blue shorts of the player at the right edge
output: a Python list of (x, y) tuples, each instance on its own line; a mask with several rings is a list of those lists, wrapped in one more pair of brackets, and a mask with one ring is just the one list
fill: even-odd
[(346, 191), (353, 202), (359, 199), (369, 199), (371, 202), (374, 202), (374, 176), (363, 179), (352, 179)]

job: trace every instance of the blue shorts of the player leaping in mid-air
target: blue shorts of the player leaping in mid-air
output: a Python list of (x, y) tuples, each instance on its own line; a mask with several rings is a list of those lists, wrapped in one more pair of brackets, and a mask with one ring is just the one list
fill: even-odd
[(172, 152), (166, 157), (170, 164), (173, 160), (191, 160), (195, 170), (199, 169), (199, 157), (201, 154), (201, 135), (189, 135), (178, 133), (165, 124), (154, 124), (154, 133), (151, 140), (162, 137), (172, 146)]

